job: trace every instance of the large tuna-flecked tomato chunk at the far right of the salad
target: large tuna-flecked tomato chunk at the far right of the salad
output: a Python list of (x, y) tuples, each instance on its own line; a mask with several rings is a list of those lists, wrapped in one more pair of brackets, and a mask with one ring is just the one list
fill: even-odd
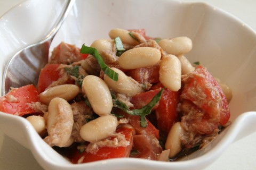
[[(205, 96), (204, 98), (202, 98), (202, 94)], [(218, 82), (205, 67), (197, 66), (196, 70), (185, 80), (181, 97), (192, 101), (207, 113), (211, 120), (215, 120), (221, 125), (228, 122), (230, 111), (227, 98)]]

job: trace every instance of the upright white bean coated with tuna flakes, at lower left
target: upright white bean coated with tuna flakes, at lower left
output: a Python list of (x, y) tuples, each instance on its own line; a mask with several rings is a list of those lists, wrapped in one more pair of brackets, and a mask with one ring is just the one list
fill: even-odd
[(62, 98), (56, 97), (50, 101), (46, 127), (48, 136), (44, 138), (50, 146), (67, 147), (73, 129), (74, 118), (71, 106)]

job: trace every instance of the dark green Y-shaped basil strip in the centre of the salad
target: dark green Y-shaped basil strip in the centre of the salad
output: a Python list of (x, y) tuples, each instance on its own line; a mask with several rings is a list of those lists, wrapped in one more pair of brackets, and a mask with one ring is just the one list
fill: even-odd
[(117, 100), (115, 97), (113, 97), (113, 104), (114, 104), (114, 107), (120, 108), (124, 112), (126, 112), (130, 115), (140, 116), (140, 126), (142, 128), (146, 128), (147, 127), (146, 116), (151, 113), (152, 108), (161, 99), (162, 93), (163, 93), (163, 89), (161, 91), (159, 91), (146, 106), (143, 106), (139, 109), (129, 110), (129, 108), (124, 103)]

